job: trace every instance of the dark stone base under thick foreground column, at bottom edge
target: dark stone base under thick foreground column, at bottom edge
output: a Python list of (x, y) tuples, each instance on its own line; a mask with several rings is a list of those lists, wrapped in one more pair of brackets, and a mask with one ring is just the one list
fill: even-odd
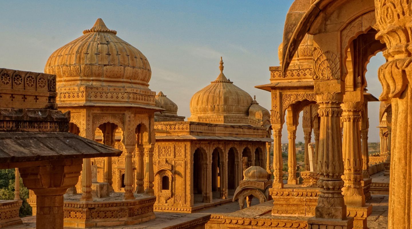
[(307, 229), (352, 229), (353, 218), (348, 217), (346, 220), (321, 219), (311, 217), (308, 220)]

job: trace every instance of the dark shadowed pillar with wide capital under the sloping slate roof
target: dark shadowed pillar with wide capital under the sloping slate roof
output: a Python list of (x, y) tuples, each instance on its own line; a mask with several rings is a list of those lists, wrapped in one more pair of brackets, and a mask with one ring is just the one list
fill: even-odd
[(63, 229), (63, 194), (73, 187), (82, 160), (59, 160), (48, 166), (20, 168), (23, 184), (36, 194), (36, 228)]

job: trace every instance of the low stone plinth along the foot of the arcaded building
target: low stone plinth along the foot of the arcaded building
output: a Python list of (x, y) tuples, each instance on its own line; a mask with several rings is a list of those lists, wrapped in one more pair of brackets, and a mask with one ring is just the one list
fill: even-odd
[(154, 210), (157, 212), (180, 212), (180, 213), (193, 213), (204, 208), (211, 208), (222, 205), (224, 203), (233, 202), (232, 198), (228, 199), (212, 199), (212, 203), (194, 203), (193, 206), (165, 206), (155, 205)]

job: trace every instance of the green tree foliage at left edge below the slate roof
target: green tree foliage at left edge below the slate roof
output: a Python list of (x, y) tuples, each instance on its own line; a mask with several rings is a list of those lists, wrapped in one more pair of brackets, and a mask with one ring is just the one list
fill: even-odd
[[(14, 199), (14, 184), (15, 184), (14, 169), (0, 170), (0, 199), (12, 200)], [(20, 217), (31, 215), (31, 207), (27, 203), (28, 189), (23, 185), (23, 180), (20, 178), (20, 199), (23, 204), (19, 210)]]

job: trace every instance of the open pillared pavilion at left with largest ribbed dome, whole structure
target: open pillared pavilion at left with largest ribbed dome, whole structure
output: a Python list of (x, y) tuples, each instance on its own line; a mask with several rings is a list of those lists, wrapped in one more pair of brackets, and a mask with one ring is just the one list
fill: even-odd
[[(71, 113), (70, 131), (123, 151), (120, 157), (84, 159), (79, 183), (66, 194), (65, 226), (154, 219), (154, 115), (164, 109), (156, 106), (149, 89), (147, 58), (97, 19), (82, 36), (54, 51), (44, 72), (56, 75), (57, 103), (59, 110)], [(103, 217), (96, 201), (99, 212), (112, 207), (110, 201), (118, 208)], [(76, 214), (91, 216), (79, 219)]]

